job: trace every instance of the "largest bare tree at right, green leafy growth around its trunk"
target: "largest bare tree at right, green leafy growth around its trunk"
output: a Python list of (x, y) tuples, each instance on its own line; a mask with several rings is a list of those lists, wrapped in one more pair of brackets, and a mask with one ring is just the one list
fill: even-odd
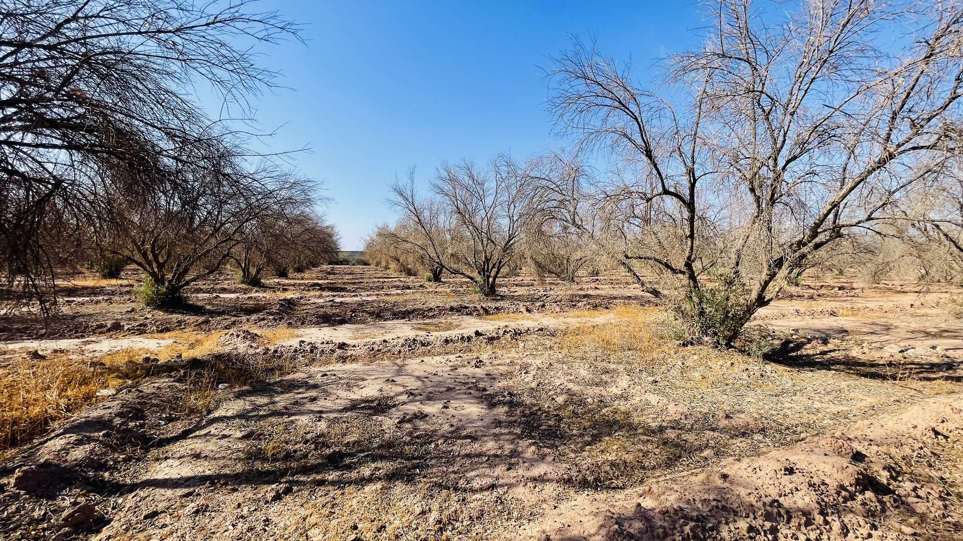
[(551, 106), (628, 178), (596, 193), (609, 223), (633, 224), (616, 256), (645, 291), (681, 292), (697, 332), (729, 344), (788, 276), (890, 218), (956, 149), (963, 10), (812, 0), (779, 20), (747, 0), (709, 9), (704, 48), (671, 59), (662, 95), (576, 43), (557, 59)]

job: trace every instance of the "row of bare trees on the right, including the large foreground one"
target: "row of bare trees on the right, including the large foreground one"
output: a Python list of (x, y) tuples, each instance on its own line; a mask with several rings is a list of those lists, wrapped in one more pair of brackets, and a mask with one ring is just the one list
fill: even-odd
[(396, 184), (401, 219), (374, 245), (482, 295), (523, 238), (534, 261), (570, 269), (590, 246), (722, 344), (846, 243), (899, 232), (959, 261), (963, 7), (707, 9), (704, 46), (668, 59), (657, 84), (575, 42), (550, 70), (572, 157), (443, 166), (424, 198)]

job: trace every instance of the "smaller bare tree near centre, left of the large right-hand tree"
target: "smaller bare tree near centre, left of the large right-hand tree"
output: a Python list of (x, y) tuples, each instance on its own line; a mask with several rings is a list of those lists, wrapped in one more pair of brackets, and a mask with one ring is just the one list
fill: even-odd
[(413, 171), (407, 185), (392, 187), (391, 202), (413, 233), (396, 241), (430, 267), (467, 278), (482, 296), (496, 295), (498, 278), (534, 218), (530, 175), (499, 156), (485, 171), (468, 162), (444, 165), (431, 190), (434, 197), (419, 198)]

